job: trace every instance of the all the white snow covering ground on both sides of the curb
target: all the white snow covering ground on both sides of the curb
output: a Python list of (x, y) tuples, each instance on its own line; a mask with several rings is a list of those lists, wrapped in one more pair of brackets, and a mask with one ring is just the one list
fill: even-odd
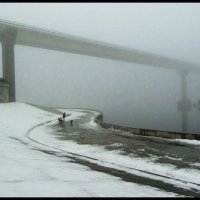
[[(67, 120), (84, 116), (81, 110), (60, 109)], [(24, 103), (0, 104), (0, 196), (1, 197), (174, 197), (175, 193), (122, 179), (70, 162), (68, 155), (76, 154), (101, 166), (140, 173), (145, 171), (167, 175), (156, 177), (182, 188), (200, 190), (200, 173), (155, 165), (151, 160), (130, 158), (95, 145), (80, 145), (56, 138), (50, 124), (60, 115), (40, 110)], [(98, 129), (92, 120), (83, 127)], [(187, 141), (186, 141), (187, 142)], [(199, 141), (195, 142), (200, 145)], [(118, 144), (116, 144), (118, 145)], [(53, 153), (48, 153), (53, 152)], [(86, 158), (86, 156), (88, 158)], [(194, 163), (198, 166), (199, 163)], [(140, 169), (138, 171), (136, 169)], [(173, 178), (176, 179), (173, 179)], [(177, 181), (177, 180), (182, 180)], [(189, 180), (189, 181), (188, 181)], [(184, 182), (186, 181), (186, 183)], [(180, 196), (180, 195), (179, 195)]]

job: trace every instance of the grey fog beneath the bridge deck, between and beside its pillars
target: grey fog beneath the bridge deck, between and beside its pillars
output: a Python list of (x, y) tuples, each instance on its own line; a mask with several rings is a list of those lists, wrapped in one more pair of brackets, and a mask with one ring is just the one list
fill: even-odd
[[(15, 51), (18, 101), (97, 109), (111, 123), (181, 130), (176, 70), (19, 45)], [(194, 103), (200, 98), (198, 88), (198, 75), (189, 74), (188, 94)], [(198, 132), (198, 116), (197, 109), (190, 111), (190, 131)]]

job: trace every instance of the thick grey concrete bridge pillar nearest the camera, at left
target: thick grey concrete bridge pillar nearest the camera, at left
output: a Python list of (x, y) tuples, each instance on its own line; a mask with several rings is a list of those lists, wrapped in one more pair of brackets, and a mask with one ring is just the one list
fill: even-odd
[(1, 33), (3, 79), (9, 84), (9, 101), (15, 102), (15, 57), (14, 45), (17, 31), (4, 29)]

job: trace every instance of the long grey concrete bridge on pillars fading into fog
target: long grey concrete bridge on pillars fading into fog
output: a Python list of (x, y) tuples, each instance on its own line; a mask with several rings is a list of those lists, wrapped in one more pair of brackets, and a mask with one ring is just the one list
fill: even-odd
[(200, 67), (182, 60), (126, 48), (105, 42), (75, 37), (60, 32), (0, 20), (3, 79), (9, 84), (9, 101), (16, 101), (14, 45), (24, 45), (55, 51), (107, 58), (153, 67), (177, 70), (181, 80), (181, 100), (178, 108), (182, 112), (182, 131), (187, 131), (187, 113), (191, 101), (187, 97), (187, 75), (200, 72)]

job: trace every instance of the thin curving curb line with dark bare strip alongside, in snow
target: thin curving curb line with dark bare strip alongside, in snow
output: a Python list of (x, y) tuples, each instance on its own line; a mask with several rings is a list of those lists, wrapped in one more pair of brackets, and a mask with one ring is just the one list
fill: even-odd
[[(57, 120), (57, 119), (55, 119), (55, 120)], [(192, 183), (192, 182), (189, 182), (189, 181), (180, 180), (180, 179), (176, 179), (176, 178), (173, 178), (173, 177), (163, 176), (163, 175), (156, 174), (156, 173), (146, 172), (144, 170), (140, 170), (140, 169), (136, 169), (136, 168), (132, 168), (132, 167), (126, 167), (126, 166), (123, 166), (123, 165), (120, 165), (120, 164), (111, 163), (111, 162), (99, 160), (99, 159), (96, 159), (96, 158), (92, 158), (92, 157), (89, 157), (89, 156), (84, 156), (84, 155), (81, 155), (81, 154), (69, 152), (69, 151), (66, 151), (66, 150), (63, 150), (63, 149), (60, 149), (60, 148), (57, 148), (57, 147), (50, 146), (48, 144), (41, 143), (41, 142), (37, 141), (36, 139), (33, 139), (33, 137), (31, 137), (31, 131), (32, 130), (39, 128), (40, 126), (46, 125), (50, 122), (53, 122), (55, 120), (49, 120), (49, 121), (37, 124), (37, 125), (33, 126), (32, 128), (30, 128), (28, 130), (26, 135), (27, 135), (27, 138), (29, 140), (31, 140), (31, 141), (39, 144), (39, 145), (51, 148), (54, 151), (44, 150), (44, 149), (40, 149), (40, 148), (37, 148), (35, 150), (42, 151), (44, 153), (48, 153), (48, 154), (51, 154), (51, 155), (54, 155), (54, 156), (70, 158), (72, 160), (71, 162), (88, 166), (91, 169), (96, 170), (96, 171), (100, 171), (100, 172), (103, 172), (103, 173), (108, 173), (110, 175), (117, 176), (117, 177), (119, 177), (122, 180), (127, 181), (127, 182), (133, 182), (133, 183), (138, 183), (138, 184), (142, 184), (142, 185), (146, 185), (146, 186), (156, 187), (158, 189), (165, 190), (167, 192), (174, 192), (174, 193), (179, 194), (179, 195), (185, 195), (185, 196), (199, 196), (200, 195), (199, 190), (196, 190), (196, 189), (189, 190), (189, 189), (185, 189), (185, 188), (176, 187), (171, 183), (167, 183), (166, 180), (165, 181), (157, 180), (157, 178), (160, 177), (160, 178), (164, 178), (164, 179), (168, 179), (168, 180), (174, 180), (176, 182), (178, 181), (178, 182), (184, 183), (184, 184), (190, 183), (190, 184), (194, 184), (196, 186), (200, 186), (199, 184)], [(63, 153), (64, 153), (64, 155), (63, 155)], [(97, 163), (94, 163), (94, 161), (96, 161), (96, 162), (98, 161), (98, 162), (101, 162), (101, 163), (112, 165), (112, 167), (114, 167), (114, 168), (99, 165)], [(126, 169), (135, 170), (136, 172), (142, 172), (144, 174), (154, 176), (155, 179), (135, 175), (135, 174), (132, 174), (132, 173), (128, 173), (125, 170), (116, 169), (115, 168), (116, 166), (118, 166), (120, 168), (124, 168), (124, 169), (126, 168)]]

